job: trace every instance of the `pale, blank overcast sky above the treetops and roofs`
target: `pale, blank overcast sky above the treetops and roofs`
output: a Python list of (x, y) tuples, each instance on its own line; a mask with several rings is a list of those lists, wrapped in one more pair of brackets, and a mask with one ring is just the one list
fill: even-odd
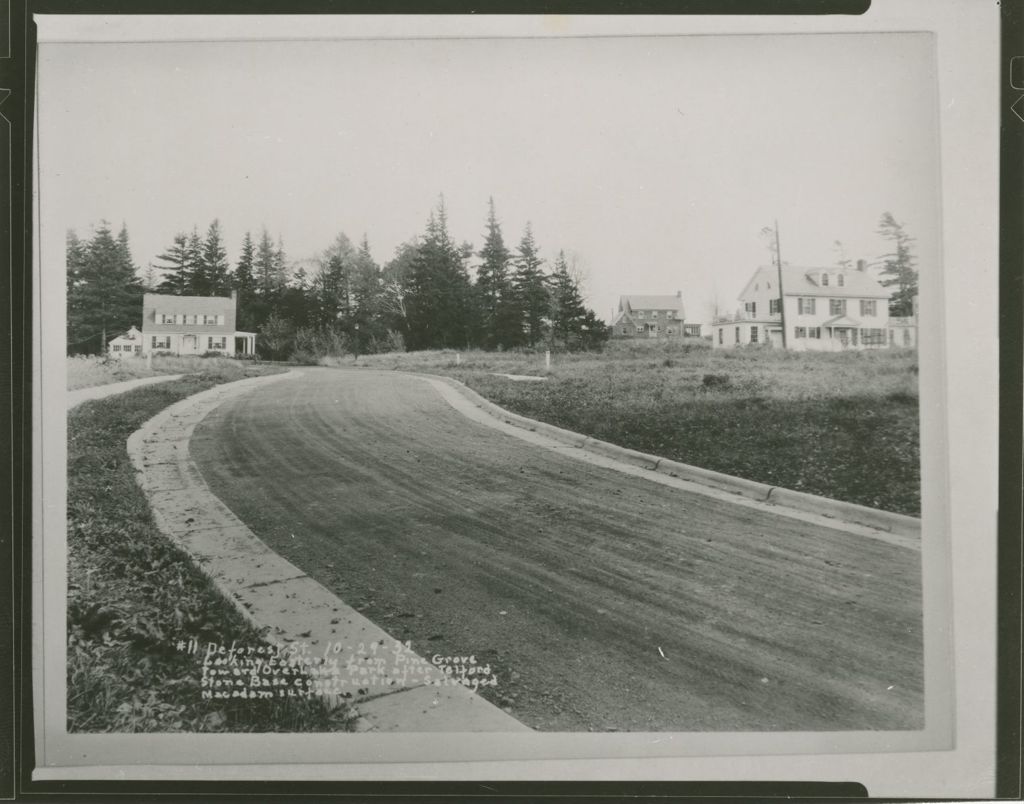
[[(46, 225), (128, 227), (137, 264), (217, 218), (293, 260), (381, 264), (443, 194), (452, 236), (527, 221), (610, 319), (621, 294), (727, 310), (782, 258), (874, 260), (885, 211), (939, 260), (933, 40), (916, 34), (44, 43)], [(52, 234), (52, 232), (51, 232)], [(61, 255), (62, 256), (62, 255)]]

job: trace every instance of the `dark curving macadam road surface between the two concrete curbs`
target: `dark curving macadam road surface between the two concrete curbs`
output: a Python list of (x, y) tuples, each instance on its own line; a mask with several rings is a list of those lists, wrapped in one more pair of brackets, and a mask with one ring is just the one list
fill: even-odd
[(272, 548), (545, 730), (923, 726), (920, 552), (590, 466), (311, 370), (191, 452)]

